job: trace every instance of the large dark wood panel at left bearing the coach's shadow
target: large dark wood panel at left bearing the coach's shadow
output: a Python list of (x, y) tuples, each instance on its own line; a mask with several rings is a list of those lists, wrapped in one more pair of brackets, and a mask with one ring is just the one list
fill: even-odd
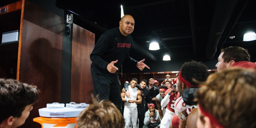
[(36, 85), (40, 100), (23, 128), (41, 128), (33, 118), (47, 103), (60, 102), (63, 18), (25, 1), (19, 80)]

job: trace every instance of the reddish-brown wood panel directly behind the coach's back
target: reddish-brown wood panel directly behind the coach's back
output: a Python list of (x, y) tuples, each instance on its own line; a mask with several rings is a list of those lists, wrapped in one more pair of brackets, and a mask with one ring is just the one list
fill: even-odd
[(95, 34), (73, 24), (71, 102), (91, 103), (93, 83), (90, 54), (94, 48)]

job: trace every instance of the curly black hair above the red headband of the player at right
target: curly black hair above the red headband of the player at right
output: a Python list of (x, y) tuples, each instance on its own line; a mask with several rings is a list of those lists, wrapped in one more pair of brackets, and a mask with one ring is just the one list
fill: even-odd
[(199, 85), (199, 82), (205, 81), (210, 75), (207, 67), (203, 63), (196, 61), (185, 62), (180, 71), (181, 76), (195, 86)]

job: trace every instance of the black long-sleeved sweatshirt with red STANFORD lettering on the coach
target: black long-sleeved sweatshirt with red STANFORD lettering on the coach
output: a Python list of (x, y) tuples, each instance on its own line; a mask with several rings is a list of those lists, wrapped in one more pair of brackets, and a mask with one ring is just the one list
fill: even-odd
[(122, 35), (119, 28), (106, 31), (100, 36), (90, 55), (92, 61), (91, 66), (101, 71), (108, 72), (106, 70), (107, 65), (112, 61), (118, 60), (118, 62), (114, 64), (118, 69), (120, 69), (123, 63), (136, 67), (138, 61), (129, 56), (132, 45), (132, 36)]

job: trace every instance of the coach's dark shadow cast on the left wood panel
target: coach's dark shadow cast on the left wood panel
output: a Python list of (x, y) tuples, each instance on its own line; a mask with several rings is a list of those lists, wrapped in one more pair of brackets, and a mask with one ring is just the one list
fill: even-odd
[(61, 79), (61, 59), (56, 58), (62, 57), (62, 51), (53, 48), (51, 42), (45, 38), (31, 42), (28, 50), (29, 54), (24, 58), (27, 63), (23, 65), (25, 68), (24, 73), (20, 73), (20, 80), (36, 85), (40, 90), (40, 99), (33, 105), (34, 109), (25, 124), (19, 128), (40, 128), (39, 123), (33, 122), (33, 118), (39, 117), (38, 109), (45, 108), (47, 103), (60, 102), (61, 83), (58, 81)]

